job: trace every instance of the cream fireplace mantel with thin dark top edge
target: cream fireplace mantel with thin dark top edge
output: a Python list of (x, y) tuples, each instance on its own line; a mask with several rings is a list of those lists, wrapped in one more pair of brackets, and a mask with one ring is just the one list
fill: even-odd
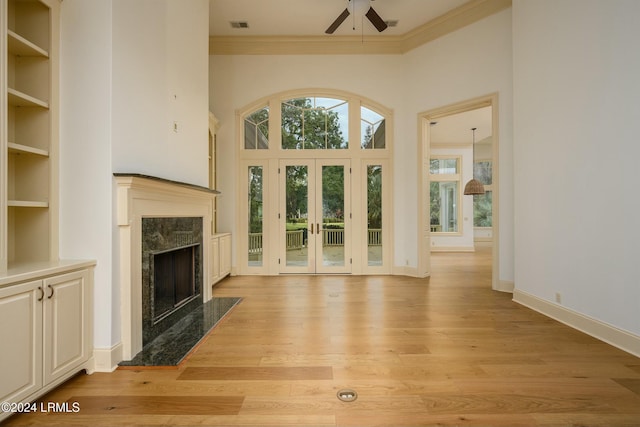
[[(118, 267), (122, 357), (142, 350), (142, 218), (202, 217), (203, 236), (211, 236), (215, 190), (139, 174), (114, 174), (117, 192)], [(209, 277), (209, 247), (202, 247), (203, 277)], [(203, 302), (211, 287), (202, 286)]]

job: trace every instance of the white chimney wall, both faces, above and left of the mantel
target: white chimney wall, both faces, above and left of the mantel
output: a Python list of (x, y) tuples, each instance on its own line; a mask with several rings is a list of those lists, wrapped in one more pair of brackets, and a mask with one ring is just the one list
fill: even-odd
[(61, 3), (60, 254), (97, 260), (96, 348), (120, 341), (113, 172), (208, 185), (208, 7)]

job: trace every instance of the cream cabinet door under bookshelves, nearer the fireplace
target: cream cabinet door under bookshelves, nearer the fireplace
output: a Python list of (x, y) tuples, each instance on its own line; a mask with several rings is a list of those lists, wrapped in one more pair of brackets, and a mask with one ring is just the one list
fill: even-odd
[(44, 382), (54, 381), (89, 357), (92, 320), (86, 270), (43, 281)]

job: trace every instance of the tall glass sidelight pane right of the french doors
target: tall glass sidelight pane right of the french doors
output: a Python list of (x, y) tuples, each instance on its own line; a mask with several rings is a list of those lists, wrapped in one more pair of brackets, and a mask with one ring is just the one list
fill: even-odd
[(368, 265), (382, 265), (382, 166), (367, 166)]

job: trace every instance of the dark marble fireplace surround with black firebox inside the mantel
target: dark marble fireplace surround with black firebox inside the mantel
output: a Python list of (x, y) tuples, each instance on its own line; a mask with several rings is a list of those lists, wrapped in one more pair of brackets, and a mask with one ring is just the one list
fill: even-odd
[(142, 345), (202, 305), (202, 218), (142, 218)]

